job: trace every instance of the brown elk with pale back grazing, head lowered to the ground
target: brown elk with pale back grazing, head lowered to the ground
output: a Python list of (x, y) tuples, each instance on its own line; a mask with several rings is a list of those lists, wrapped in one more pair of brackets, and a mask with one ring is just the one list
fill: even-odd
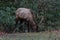
[(28, 23), (28, 32), (29, 32), (29, 24), (32, 25), (32, 29), (34, 32), (37, 31), (37, 24), (34, 19), (33, 11), (28, 8), (18, 8), (16, 10), (16, 25), (18, 21), (22, 23), (23, 21), (26, 21)]

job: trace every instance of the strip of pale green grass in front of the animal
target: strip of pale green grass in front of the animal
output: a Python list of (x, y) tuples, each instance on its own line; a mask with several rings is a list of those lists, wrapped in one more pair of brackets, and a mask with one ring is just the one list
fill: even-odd
[(60, 32), (4, 34), (0, 36), (0, 40), (60, 40)]

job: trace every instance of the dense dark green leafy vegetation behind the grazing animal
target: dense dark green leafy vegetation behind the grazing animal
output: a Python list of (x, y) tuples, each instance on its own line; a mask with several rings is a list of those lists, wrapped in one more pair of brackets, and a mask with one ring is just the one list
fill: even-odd
[(0, 31), (12, 32), (21, 7), (34, 11), (40, 31), (60, 29), (60, 0), (0, 0)]

